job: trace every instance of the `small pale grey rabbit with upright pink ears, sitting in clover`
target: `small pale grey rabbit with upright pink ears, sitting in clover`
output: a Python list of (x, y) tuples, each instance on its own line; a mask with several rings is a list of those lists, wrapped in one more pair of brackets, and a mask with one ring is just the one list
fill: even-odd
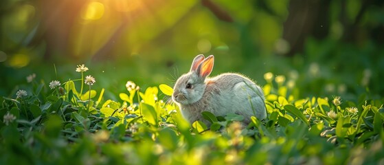
[(190, 124), (196, 120), (210, 126), (201, 112), (216, 116), (236, 113), (244, 116), (242, 124), (249, 124), (251, 115), (258, 120), (267, 117), (264, 93), (260, 86), (240, 74), (225, 73), (208, 78), (214, 67), (214, 56), (196, 56), (190, 72), (176, 81), (172, 100), (179, 106), (183, 118)]

